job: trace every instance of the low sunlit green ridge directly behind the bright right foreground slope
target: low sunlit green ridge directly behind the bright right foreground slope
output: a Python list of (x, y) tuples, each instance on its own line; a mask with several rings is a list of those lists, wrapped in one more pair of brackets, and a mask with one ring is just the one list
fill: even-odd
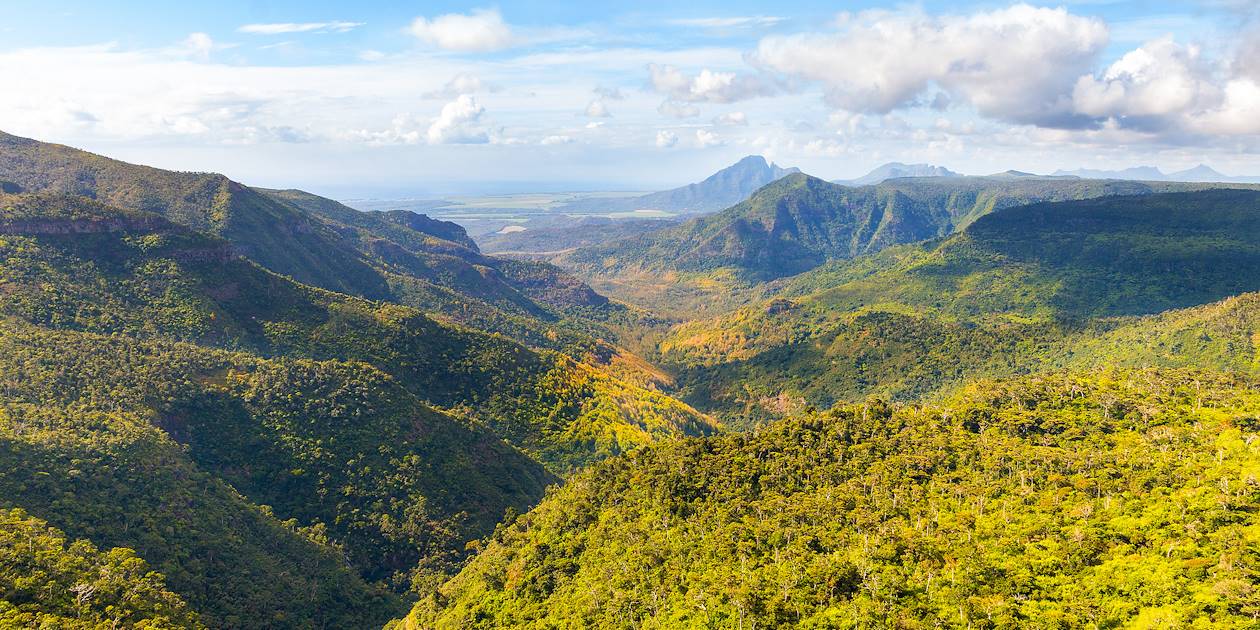
[[(887, 310), (667, 341), (684, 399), (751, 427), (806, 407), (937, 398), (966, 379), (1108, 365), (1260, 374), (1260, 294), (1084, 325), (976, 326)], [(696, 330), (696, 329), (692, 329)], [(703, 333), (702, 333), (703, 334)], [(701, 354), (703, 350), (703, 354)]]

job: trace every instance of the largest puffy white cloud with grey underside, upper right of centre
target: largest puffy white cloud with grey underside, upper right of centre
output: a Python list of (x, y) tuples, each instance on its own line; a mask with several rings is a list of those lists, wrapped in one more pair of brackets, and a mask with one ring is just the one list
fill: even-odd
[(833, 106), (886, 113), (934, 89), (982, 115), (1070, 126), (1072, 86), (1106, 45), (1106, 25), (1026, 4), (971, 15), (842, 15), (833, 33), (761, 40), (755, 63), (816, 81)]

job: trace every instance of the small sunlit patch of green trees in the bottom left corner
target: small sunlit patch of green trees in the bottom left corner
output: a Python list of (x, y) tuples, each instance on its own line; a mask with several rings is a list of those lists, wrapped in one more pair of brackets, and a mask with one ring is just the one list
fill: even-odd
[(204, 627), (134, 551), (67, 541), (20, 509), (0, 510), (0, 625)]

